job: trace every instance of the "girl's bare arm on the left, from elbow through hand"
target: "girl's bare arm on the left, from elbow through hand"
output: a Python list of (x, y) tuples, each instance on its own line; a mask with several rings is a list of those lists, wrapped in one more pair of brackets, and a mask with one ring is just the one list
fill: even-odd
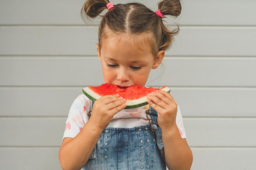
[(94, 103), (92, 116), (79, 134), (63, 140), (58, 154), (63, 170), (80, 170), (87, 163), (101, 132), (126, 107), (125, 102), (122, 97), (106, 95)]

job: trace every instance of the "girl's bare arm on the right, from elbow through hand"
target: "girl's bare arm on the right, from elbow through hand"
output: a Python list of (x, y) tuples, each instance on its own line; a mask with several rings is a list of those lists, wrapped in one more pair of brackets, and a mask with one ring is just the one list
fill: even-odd
[(173, 97), (158, 91), (148, 96), (148, 103), (157, 113), (162, 129), (165, 162), (169, 170), (190, 170), (193, 156), (186, 139), (182, 139), (176, 125), (177, 103)]

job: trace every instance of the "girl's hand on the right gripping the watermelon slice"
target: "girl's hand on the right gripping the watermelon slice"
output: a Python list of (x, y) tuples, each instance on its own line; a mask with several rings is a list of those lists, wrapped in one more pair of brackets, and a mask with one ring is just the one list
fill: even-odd
[(177, 103), (166, 91), (148, 95), (148, 104), (157, 111), (157, 123), (162, 130), (176, 125)]

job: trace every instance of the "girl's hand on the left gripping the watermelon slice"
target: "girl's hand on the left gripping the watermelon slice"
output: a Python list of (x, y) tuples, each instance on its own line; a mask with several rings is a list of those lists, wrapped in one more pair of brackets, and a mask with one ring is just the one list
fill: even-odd
[(108, 126), (114, 115), (126, 107), (126, 99), (118, 95), (105, 95), (96, 100), (92, 107), (92, 113), (89, 121), (104, 129)]

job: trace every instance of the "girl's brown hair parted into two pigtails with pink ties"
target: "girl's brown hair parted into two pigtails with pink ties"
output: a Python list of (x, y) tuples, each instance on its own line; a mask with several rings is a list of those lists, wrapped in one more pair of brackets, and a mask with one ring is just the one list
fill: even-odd
[[(105, 9), (108, 9), (109, 0), (87, 0), (81, 9), (83, 21), (96, 18)], [(102, 40), (108, 37), (106, 31), (112, 33), (126, 33), (127, 35), (140, 35), (141, 33), (152, 34), (150, 43), (154, 46), (153, 55), (157, 57), (160, 50), (168, 50), (174, 40), (174, 36), (179, 33), (180, 28), (169, 30), (164, 24), (164, 16), (177, 17), (181, 13), (180, 0), (162, 0), (158, 3), (158, 12), (154, 12), (144, 4), (133, 2), (127, 4), (114, 4), (105, 15), (102, 15), (99, 24), (99, 46)], [(134, 36), (133, 36), (134, 37)]]

